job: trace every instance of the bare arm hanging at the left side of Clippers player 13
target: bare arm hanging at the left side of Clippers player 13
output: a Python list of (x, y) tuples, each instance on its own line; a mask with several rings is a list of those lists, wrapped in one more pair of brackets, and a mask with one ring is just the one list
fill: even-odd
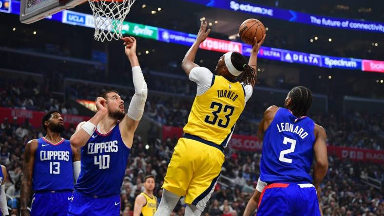
[(25, 145), (24, 149), (24, 162), (23, 162), (23, 175), (21, 178), (20, 189), (20, 211), (21, 216), (29, 216), (28, 204), (30, 202), (33, 164), (35, 162), (35, 153), (38, 148), (38, 141), (31, 140)]

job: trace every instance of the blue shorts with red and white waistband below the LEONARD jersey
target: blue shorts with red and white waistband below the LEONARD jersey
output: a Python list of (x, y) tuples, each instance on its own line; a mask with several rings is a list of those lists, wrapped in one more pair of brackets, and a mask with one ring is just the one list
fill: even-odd
[(260, 195), (257, 216), (320, 216), (312, 184), (272, 183)]

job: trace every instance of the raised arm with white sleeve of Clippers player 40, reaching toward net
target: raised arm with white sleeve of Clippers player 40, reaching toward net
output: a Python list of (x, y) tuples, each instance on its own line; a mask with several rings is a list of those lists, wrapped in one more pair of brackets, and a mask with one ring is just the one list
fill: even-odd
[(132, 79), (134, 81), (134, 96), (127, 111), (127, 115), (119, 124), (121, 137), (127, 147), (132, 146), (134, 131), (144, 113), (145, 102), (147, 100), (148, 88), (141, 71), (136, 55), (136, 39), (134, 37), (124, 37), (125, 54), (132, 66)]

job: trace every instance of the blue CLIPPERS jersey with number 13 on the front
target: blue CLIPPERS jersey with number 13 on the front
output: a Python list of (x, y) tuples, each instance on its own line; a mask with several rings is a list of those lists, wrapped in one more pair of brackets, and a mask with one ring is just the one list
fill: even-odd
[(52, 144), (38, 139), (33, 165), (32, 187), (35, 191), (73, 190), (72, 149), (69, 140)]

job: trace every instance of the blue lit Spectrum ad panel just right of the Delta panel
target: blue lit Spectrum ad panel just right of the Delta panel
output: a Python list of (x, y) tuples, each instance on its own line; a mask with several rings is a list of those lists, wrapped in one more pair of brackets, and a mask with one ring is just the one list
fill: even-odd
[(322, 56), (323, 67), (325, 68), (342, 68), (350, 70), (361, 69), (361, 59), (354, 58), (338, 58), (332, 56)]

